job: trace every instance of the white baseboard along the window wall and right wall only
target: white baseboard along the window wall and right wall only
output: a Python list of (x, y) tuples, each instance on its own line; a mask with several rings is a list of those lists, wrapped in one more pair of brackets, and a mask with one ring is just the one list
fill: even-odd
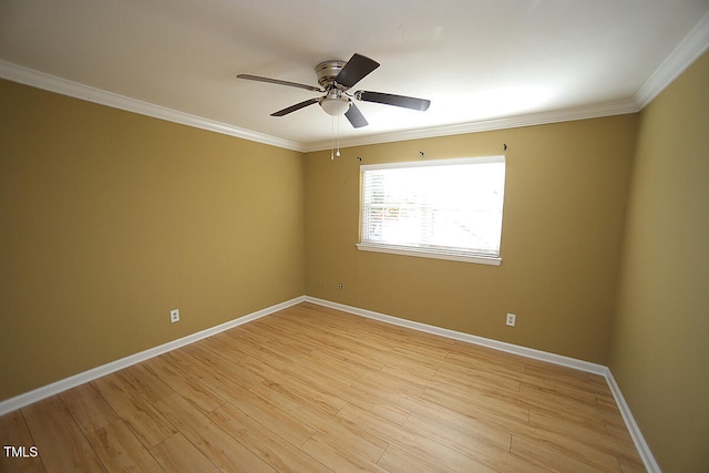
[(633, 412), (630, 412), (630, 408), (625, 401), (623, 393), (620, 392), (620, 388), (616, 383), (610, 369), (603, 364), (592, 363), (584, 360), (578, 360), (576, 358), (564, 357), (562, 354), (549, 353), (547, 351), (535, 350), (533, 348), (521, 347), (518, 345), (506, 343), (504, 341), (493, 340), (490, 338), (477, 337), (470, 333), (459, 332), (455, 330), (444, 329), (441, 327), (430, 326), (427, 323), (415, 322), (412, 320), (401, 319), (399, 317), (388, 316), (380, 312), (374, 312), (372, 310), (360, 309), (358, 307), (347, 306), (339, 302), (332, 302), (325, 299), (318, 299), (316, 297), (306, 296), (306, 302), (317, 304), (319, 306), (329, 307), (331, 309), (341, 310), (343, 312), (353, 313), (356, 316), (367, 317), (370, 319), (379, 320), (387, 323), (392, 323), (400, 327), (407, 327), (413, 330), (424, 331), (428, 333), (438, 335), (441, 337), (451, 338), (454, 340), (464, 341), (467, 343), (474, 343), (482, 347), (492, 348), (495, 350), (504, 351), (507, 353), (518, 354), (521, 357), (531, 358), (534, 360), (546, 361), (554, 364), (559, 364), (567, 368), (573, 368), (576, 370), (586, 371), (589, 373), (602, 376), (608, 382), (608, 387), (610, 388), (610, 392), (613, 393), (616, 403), (618, 404), (618, 409), (620, 410), (620, 414), (623, 415), (623, 420), (625, 421), (626, 426), (628, 428), (628, 432), (630, 433), (630, 438), (633, 438), (633, 442), (635, 443), (635, 448), (645, 464), (645, 469), (650, 473), (661, 473), (659, 465), (657, 464), (650, 448), (648, 446), (643, 433), (640, 432), (640, 428), (635, 422), (635, 418), (633, 417)]

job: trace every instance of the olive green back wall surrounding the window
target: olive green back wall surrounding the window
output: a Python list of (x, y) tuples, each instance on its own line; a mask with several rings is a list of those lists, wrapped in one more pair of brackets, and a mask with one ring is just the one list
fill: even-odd
[[(636, 127), (623, 115), (309, 153), (306, 294), (605, 363)], [(356, 248), (360, 164), (420, 151), (506, 155), (500, 267)]]

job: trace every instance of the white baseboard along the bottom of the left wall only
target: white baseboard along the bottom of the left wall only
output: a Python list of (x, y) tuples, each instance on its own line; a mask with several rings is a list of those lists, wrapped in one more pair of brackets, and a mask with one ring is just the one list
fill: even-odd
[(111, 361), (110, 363), (90, 369), (79, 374), (64, 378), (51, 384), (47, 384), (41, 388), (38, 388), (33, 391), (25, 392), (24, 394), (10, 398), (8, 400), (0, 402), (0, 415), (6, 414), (10, 411), (14, 411), (20, 408), (23, 408), (33, 402), (41, 401), (42, 399), (49, 398), (50, 395), (59, 394), (60, 392), (63, 392), (69, 389), (75, 388), (78, 385), (84, 384), (86, 382), (93, 381), (95, 379), (110, 374), (114, 371), (119, 371), (124, 368), (131, 367), (133, 364), (140, 363), (142, 361), (148, 360), (151, 358), (157, 357), (158, 354), (163, 354), (168, 351), (175, 350), (177, 348), (185, 347), (189, 343), (194, 343), (195, 341), (202, 340), (207, 337), (212, 337), (213, 335), (223, 332), (225, 330), (232, 329), (243, 323), (250, 322), (253, 320), (259, 319), (261, 317), (268, 316), (270, 313), (277, 312), (282, 309), (287, 309), (288, 307), (304, 302), (305, 300), (306, 300), (305, 296), (299, 296), (294, 299), (287, 300), (285, 302), (280, 302), (275, 306), (270, 306), (265, 309), (257, 310), (256, 312), (251, 312), (246, 316), (239, 317), (237, 319), (229, 320), (228, 322), (224, 322), (218, 326), (210, 327), (208, 329), (188, 335), (177, 340), (173, 340), (167, 343), (150, 348), (145, 351), (131, 354), (120, 360)]

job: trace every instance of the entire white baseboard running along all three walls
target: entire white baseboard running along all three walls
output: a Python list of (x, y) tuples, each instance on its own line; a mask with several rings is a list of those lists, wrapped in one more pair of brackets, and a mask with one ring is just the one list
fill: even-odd
[(559, 364), (563, 367), (574, 368), (577, 370), (587, 371), (594, 374), (603, 376), (607, 381), (610, 388), (610, 392), (613, 393), (618, 408), (620, 409), (620, 413), (625, 423), (630, 432), (630, 436), (635, 442), (635, 446), (638, 449), (638, 453), (645, 463), (645, 467), (650, 473), (661, 473), (661, 470), (657, 462), (655, 461), (655, 456), (650, 452), (649, 446), (647, 445), (643, 433), (638, 424), (635, 422), (633, 418), (633, 413), (630, 412), (630, 408), (625, 401), (623, 393), (620, 392), (620, 388), (616, 383), (613, 373), (603, 364), (592, 363), (584, 360), (578, 360), (575, 358), (564, 357), (556, 353), (549, 353), (542, 350), (535, 350), (532, 348), (521, 347), (513, 343), (506, 343), (499, 340), (493, 340), (490, 338), (477, 337), (470, 333), (459, 332), (455, 330), (444, 329), (441, 327), (430, 326), (427, 323), (415, 322), (412, 320), (401, 319), (399, 317), (388, 316), (386, 313), (374, 312), (372, 310), (360, 309), (358, 307), (346, 306), (339, 302), (332, 302), (325, 299), (318, 299), (316, 297), (309, 296), (300, 296), (294, 299), (287, 300), (281, 304), (277, 304), (271, 307), (267, 307), (265, 309), (258, 310), (253, 313), (248, 313), (246, 316), (239, 317), (234, 320), (229, 320), (228, 322), (198, 331), (196, 333), (188, 335), (177, 340), (173, 340), (171, 342), (161, 345), (158, 347), (151, 348), (145, 351), (141, 351), (135, 354), (131, 354), (129, 357), (122, 358), (116, 361), (112, 361), (110, 363), (103, 364), (101, 367), (93, 368), (91, 370), (84, 371), (82, 373), (72, 376), (70, 378), (65, 378), (53, 382), (51, 384), (47, 384), (44, 387), (38, 388), (33, 391), (27, 392), (24, 394), (17, 395), (14, 398), (8, 399), (6, 401), (0, 402), (0, 415), (6, 414), (10, 411), (14, 411), (17, 409), (21, 409), (25, 405), (29, 405), (33, 402), (40, 401), (42, 399), (49, 398), (50, 395), (59, 394), (62, 391), (66, 391), (69, 389), (75, 388), (80, 384), (93, 381), (97, 378), (110, 374), (114, 371), (122, 370), (124, 368), (131, 367), (133, 364), (140, 363), (142, 361), (148, 360), (153, 357), (157, 357), (158, 354), (163, 354), (167, 351), (175, 350), (181, 347), (185, 347), (189, 343), (194, 343), (195, 341), (202, 340), (204, 338), (210, 337), (213, 335), (223, 332), (225, 330), (232, 329), (234, 327), (250, 322), (253, 320), (259, 319), (261, 317), (268, 316), (270, 313), (277, 312), (282, 309), (287, 309), (288, 307), (298, 305), (300, 302), (312, 302), (318, 306), (329, 307), (332, 309), (341, 310), (343, 312), (353, 313), (357, 316), (367, 317), (370, 319), (380, 320), (387, 323), (392, 323), (400, 327), (407, 327), (410, 329), (424, 331), (428, 333), (438, 335), (441, 337), (446, 337), (455, 340), (465, 341), (469, 343), (480, 345), (487, 348), (493, 348), (495, 350), (505, 351), (507, 353), (520, 354), (522, 357), (547, 361), (549, 363)]

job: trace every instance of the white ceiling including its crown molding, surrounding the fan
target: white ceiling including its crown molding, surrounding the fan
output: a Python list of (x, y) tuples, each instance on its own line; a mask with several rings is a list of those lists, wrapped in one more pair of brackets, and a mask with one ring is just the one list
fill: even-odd
[(353, 90), (431, 100), (357, 102), (374, 143), (637, 111), (708, 45), (709, 0), (0, 0), (0, 76), (301, 151), (332, 119), (269, 114), (317, 94), (236, 74), (367, 55)]

